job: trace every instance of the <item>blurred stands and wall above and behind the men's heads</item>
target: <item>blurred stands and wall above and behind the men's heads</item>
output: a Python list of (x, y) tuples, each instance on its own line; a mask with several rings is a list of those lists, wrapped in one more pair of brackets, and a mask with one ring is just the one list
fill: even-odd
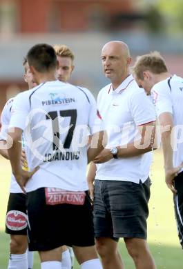
[(158, 50), (183, 75), (182, 0), (0, 0), (0, 114), (20, 90), (23, 57), (35, 43), (65, 43), (75, 54), (71, 83), (97, 96), (106, 81), (100, 53), (122, 40), (138, 54)]

